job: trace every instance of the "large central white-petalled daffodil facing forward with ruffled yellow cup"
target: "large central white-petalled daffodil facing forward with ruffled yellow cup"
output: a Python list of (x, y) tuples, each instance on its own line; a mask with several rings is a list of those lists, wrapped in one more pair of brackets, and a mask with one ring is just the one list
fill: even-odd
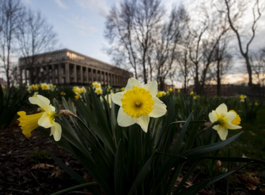
[(122, 127), (137, 123), (147, 132), (150, 117), (161, 117), (166, 105), (156, 97), (157, 82), (142, 85), (135, 78), (129, 78), (124, 91), (112, 95), (112, 101), (120, 106), (117, 122)]

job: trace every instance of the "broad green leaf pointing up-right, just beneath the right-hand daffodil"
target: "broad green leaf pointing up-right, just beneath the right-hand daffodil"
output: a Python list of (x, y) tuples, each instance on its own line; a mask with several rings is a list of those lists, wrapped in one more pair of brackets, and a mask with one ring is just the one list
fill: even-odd
[(188, 150), (186, 152), (183, 152), (181, 154), (181, 156), (187, 157), (189, 160), (198, 159), (199, 157), (203, 156), (204, 154), (208, 154), (210, 152), (213, 152), (215, 150), (218, 150), (218, 149), (226, 146), (227, 144), (230, 144), (236, 138), (238, 138), (242, 133), (243, 133), (243, 131), (234, 135), (233, 137), (230, 137), (230, 138), (228, 138), (224, 141), (221, 141), (221, 142), (217, 142), (215, 144), (210, 144), (207, 146), (202, 146), (202, 147)]

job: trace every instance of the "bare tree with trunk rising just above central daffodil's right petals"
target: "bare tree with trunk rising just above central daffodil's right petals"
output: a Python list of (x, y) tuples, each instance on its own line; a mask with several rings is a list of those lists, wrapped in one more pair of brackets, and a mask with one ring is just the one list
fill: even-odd
[(160, 90), (164, 90), (165, 78), (171, 72), (178, 57), (178, 44), (185, 32), (189, 17), (183, 6), (173, 8), (169, 21), (160, 26), (155, 36), (153, 65)]

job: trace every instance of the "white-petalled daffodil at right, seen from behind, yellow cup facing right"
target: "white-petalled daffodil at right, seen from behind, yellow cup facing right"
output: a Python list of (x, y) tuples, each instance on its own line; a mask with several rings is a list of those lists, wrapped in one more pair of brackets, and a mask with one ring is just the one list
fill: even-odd
[[(214, 125), (213, 129), (217, 131), (221, 140), (225, 140), (228, 135), (228, 129), (241, 129), (241, 126), (238, 126), (238, 122), (234, 122), (237, 116), (236, 112), (228, 112), (227, 106), (223, 103), (219, 105), (216, 110), (212, 110), (209, 113), (210, 121), (217, 122), (218, 125)], [(240, 119), (240, 118), (239, 118)], [(236, 119), (237, 120), (237, 119)], [(237, 120), (238, 121), (238, 120)]]

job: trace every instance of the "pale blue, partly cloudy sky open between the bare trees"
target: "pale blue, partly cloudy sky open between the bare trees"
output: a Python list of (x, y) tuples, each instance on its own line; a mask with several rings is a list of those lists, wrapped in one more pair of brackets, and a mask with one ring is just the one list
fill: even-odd
[[(206, 4), (210, 2), (204, 1)], [(54, 27), (54, 31), (58, 34), (58, 49), (68, 48), (110, 64), (111, 58), (103, 49), (110, 46), (104, 38), (104, 27), (109, 10), (112, 6), (117, 6), (119, 2), (120, 0), (22, 0), (25, 6), (35, 11), (41, 11)], [(196, 9), (201, 0), (162, 0), (162, 4), (168, 12), (172, 4), (178, 6), (181, 2), (188, 10), (192, 10)], [(196, 15), (193, 14), (191, 17), (196, 17)], [(252, 18), (252, 13), (247, 12), (243, 23), (249, 26)], [(256, 37), (250, 46), (254, 51), (265, 47), (265, 14), (262, 15), (258, 25)], [(231, 41), (231, 47), (237, 53), (235, 58), (241, 58), (235, 38)], [(230, 74), (246, 72), (244, 68), (239, 68), (242, 67), (242, 60), (234, 60), (233, 63), (234, 67)]]

